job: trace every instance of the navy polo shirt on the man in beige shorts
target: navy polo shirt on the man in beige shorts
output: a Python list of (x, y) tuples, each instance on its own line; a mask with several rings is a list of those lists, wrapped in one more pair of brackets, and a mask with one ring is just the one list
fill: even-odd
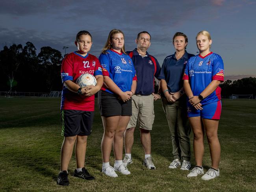
[[(148, 52), (146, 52), (146, 55), (143, 57), (139, 55), (137, 48), (135, 48), (133, 51), (126, 52), (126, 54), (129, 55), (131, 52), (133, 53), (132, 62), (134, 63), (137, 76), (137, 87), (134, 94), (150, 95), (154, 92), (154, 76), (158, 78), (161, 67), (156, 58), (149, 55)], [(154, 74), (154, 62), (150, 56), (156, 61), (156, 74)]]

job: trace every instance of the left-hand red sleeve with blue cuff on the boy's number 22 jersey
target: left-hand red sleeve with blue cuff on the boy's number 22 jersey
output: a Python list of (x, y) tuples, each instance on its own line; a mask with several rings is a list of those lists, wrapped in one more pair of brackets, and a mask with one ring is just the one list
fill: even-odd
[(70, 55), (67, 55), (62, 61), (61, 80), (62, 83), (67, 80), (73, 81), (73, 61)]

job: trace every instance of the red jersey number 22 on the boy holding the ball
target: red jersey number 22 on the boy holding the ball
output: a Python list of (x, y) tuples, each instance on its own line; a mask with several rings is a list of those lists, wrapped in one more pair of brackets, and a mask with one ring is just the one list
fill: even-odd
[[(102, 66), (97, 57), (91, 54), (82, 56), (76, 52), (68, 54), (62, 61), (62, 83), (70, 80), (76, 83), (76, 79), (85, 73), (102, 75)], [(94, 111), (94, 95), (85, 97), (70, 91), (63, 85), (61, 95), (61, 109)]]

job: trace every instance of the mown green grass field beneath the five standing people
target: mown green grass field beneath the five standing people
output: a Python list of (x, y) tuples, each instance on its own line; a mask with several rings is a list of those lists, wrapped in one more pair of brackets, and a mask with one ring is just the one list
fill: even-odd
[[(71, 176), (76, 168), (73, 155), (70, 186), (65, 187), (56, 185), (63, 141), (59, 104), (59, 98), (0, 98), (0, 191), (256, 191), (256, 100), (223, 100), (219, 125), (220, 177), (211, 181), (200, 177), (188, 179), (188, 171), (168, 168), (173, 160), (171, 138), (161, 101), (155, 102), (156, 118), (151, 132), (156, 170), (143, 167), (144, 154), (136, 130), (134, 163), (128, 166), (132, 174), (106, 177), (100, 172), (103, 127), (96, 107), (85, 160), (96, 180), (83, 181)], [(192, 138), (193, 133), (191, 143)], [(205, 146), (206, 171), (211, 160), (207, 142)], [(112, 152), (110, 164), (113, 163)], [(191, 163), (195, 166), (193, 152)]]

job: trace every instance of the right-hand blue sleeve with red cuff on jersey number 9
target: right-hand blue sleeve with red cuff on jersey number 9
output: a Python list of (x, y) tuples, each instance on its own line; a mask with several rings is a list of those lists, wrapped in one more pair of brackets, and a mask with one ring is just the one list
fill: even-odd
[(212, 80), (224, 81), (224, 63), (221, 57), (213, 61)]

